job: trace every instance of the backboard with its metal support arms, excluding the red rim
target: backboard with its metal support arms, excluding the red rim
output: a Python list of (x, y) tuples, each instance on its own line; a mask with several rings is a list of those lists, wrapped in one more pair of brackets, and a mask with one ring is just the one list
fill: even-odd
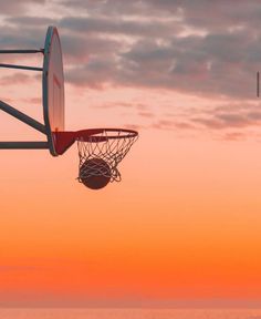
[[(0, 69), (17, 69), (42, 73), (42, 104), (43, 124), (18, 111), (13, 106), (0, 101), (0, 110), (25, 123), (38, 132), (45, 135), (44, 142), (0, 142), (0, 150), (22, 148), (48, 148), (53, 156), (55, 151), (54, 132), (64, 131), (64, 75), (62, 63), (62, 49), (58, 29), (53, 25), (48, 28), (44, 48), (39, 49), (3, 49), (0, 55), (4, 54), (41, 54), (43, 55), (42, 68), (0, 63)], [(55, 80), (55, 81), (54, 81)], [(55, 85), (54, 85), (55, 84)]]

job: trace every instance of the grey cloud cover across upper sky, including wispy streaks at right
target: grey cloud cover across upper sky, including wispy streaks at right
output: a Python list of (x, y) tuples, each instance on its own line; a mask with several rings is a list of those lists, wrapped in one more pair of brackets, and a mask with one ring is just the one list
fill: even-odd
[[(0, 8), (6, 6), (0, 47), (42, 48), (48, 24), (56, 24), (70, 84), (209, 99), (197, 115), (179, 112), (175, 121), (143, 105), (137, 116), (158, 128), (226, 131), (260, 124), (257, 105), (249, 103), (260, 68), (260, 1), (50, 0), (54, 11), (41, 16), (31, 9), (46, 1), (21, 2), (14, 14), (14, 1), (0, 1)], [(1, 79), (2, 84), (8, 81)], [(228, 105), (211, 106), (211, 101), (223, 100)], [(233, 100), (244, 102), (233, 105)]]

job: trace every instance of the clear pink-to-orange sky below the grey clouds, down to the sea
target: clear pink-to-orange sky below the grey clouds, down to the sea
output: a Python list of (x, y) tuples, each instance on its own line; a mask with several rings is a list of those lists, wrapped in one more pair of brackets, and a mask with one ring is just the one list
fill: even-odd
[[(41, 79), (17, 74), (1, 71), (0, 100), (42, 121)], [(119, 164), (122, 183), (100, 192), (75, 179), (75, 145), (56, 158), (0, 152), (0, 306), (261, 300), (259, 122), (236, 119), (259, 102), (74, 84), (65, 86), (67, 130), (135, 125), (139, 140)], [(2, 141), (42, 138), (2, 112), (0, 123)]]

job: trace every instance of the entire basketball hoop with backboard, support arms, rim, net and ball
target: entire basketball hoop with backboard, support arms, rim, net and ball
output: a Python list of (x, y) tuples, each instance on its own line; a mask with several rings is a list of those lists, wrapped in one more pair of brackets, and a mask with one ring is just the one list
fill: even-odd
[(43, 122), (22, 113), (0, 101), (0, 110), (45, 135), (44, 141), (4, 141), (0, 150), (49, 150), (59, 156), (77, 143), (79, 182), (92, 189), (105, 187), (108, 182), (119, 182), (118, 163), (138, 138), (138, 133), (125, 128), (90, 128), (77, 132), (64, 131), (64, 75), (62, 48), (58, 29), (48, 28), (44, 48), (0, 50), (0, 54), (43, 55), (42, 68), (0, 63), (0, 68), (28, 70), (42, 74)]

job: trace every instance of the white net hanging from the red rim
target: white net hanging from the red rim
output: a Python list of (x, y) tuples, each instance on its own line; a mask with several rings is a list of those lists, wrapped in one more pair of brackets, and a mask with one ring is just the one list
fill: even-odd
[[(117, 165), (137, 138), (138, 134), (134, 131), (112, 128), (87, 138), (77, 137), (79, 182), (82, 183), (92, 176), (105, 176), (109, 177), (109, 182), (119, 182), (122, 177)], [(86, 163), (91, 163), (91, 169)]]

